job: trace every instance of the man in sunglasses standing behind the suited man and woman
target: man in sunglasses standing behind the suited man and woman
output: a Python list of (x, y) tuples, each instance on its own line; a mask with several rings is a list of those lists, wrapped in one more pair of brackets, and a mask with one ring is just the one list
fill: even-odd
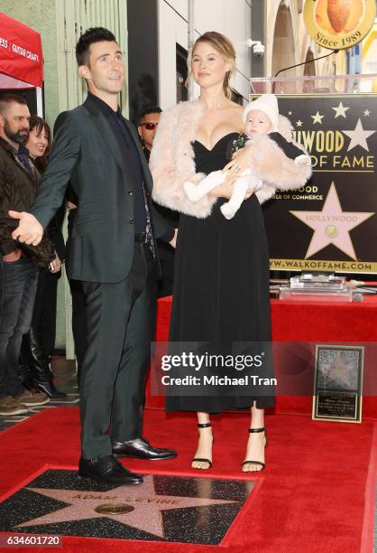
[[(141, 138), (143, 152), (148, 163), (161, 113), (162, 109), (159, 106), (148, 106), (143, 108), (143, 111), (140, 113), (137, 131)], [(163, 207), (155, 202), (153, 202), (153, 205), (156, 210), (161, 213), (162, 217), (169, 222), (171, 227), (178, 227), (179, 213), (177, 211), (172, 211), (169, 208)], [(170, 246), (170, 244), (160, 239), (157, 240), (157, 248), (159, 250), (159, 258), (161, 263), (161, 279), (158, 282), (157, 290), (158, 296), (164, 297), (173, 293), (175, 250)]]

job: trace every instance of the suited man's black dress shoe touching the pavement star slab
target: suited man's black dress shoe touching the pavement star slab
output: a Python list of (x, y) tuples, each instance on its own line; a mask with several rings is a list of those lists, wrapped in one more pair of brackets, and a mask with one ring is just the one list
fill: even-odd
[(128, 471), (113, 455), (94, 457), (93, 459), (83, 459), (81, 457), (78, 463), (78, 474), (86, 478), (94, 478), (101, 482), (115, 484), (116, 486), (143, 482), (141, 474)]

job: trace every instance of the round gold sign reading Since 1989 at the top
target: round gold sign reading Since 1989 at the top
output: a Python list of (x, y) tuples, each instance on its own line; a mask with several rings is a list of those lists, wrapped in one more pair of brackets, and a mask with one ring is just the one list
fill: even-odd
[(310, 36), (324, 48), (352, 48), (369, 33), (375, 0), (307, 0), (304, 20)]

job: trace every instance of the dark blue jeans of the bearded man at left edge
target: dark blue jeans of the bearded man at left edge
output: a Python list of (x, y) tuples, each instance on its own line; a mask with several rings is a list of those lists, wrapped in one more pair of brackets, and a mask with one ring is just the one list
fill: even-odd
[(0, 398), (24, 391), (18, 360), (23, 334), (32, 322), (37, 283), (38, 268), (30, 258), (0, 260)]

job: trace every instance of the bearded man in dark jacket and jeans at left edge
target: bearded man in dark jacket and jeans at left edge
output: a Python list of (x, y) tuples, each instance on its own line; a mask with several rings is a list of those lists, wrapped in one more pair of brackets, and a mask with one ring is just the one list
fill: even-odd
[(29, 133), (26, 100), (16, 94), (0, 97), (0, 415), (21, 415), (44, 405), (49, 397), (25, 389), (19, 378), (23, 334), (32, 322), (38, 265), (51, 263), (51, 242), (39, 246), (12, 239), (16, 224), (9, 210), (28, 210), (40, 181), (24, 142)]

